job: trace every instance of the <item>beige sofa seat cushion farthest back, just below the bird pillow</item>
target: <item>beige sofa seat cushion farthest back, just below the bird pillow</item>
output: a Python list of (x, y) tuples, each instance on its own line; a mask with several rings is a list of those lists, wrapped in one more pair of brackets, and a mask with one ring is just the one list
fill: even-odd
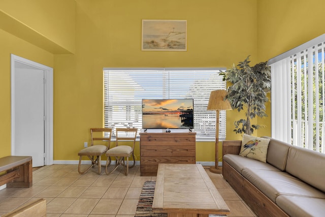
[(246, 167), (264, 169), (264, 170), (274, 170), (280, 171), (279, 169), (273, 167), (270, 164), (263, 163), (261, 161), (256, 161), (254, 159), (245, 158), (237, 154), (225, 154), (223, 156), (223, 161), (227, 162), (230, 166), (234, 167), (239, 173)]

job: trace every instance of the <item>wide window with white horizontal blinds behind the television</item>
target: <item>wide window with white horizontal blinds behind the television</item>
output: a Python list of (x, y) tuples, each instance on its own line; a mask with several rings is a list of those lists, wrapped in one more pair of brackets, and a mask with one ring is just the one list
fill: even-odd
[[(225, 89), (224, 69), (104, 69), (105, 127), (142, 128), (142, 99), (193, 99), (198, 139), (215, 138), (215, 111), (210, 92)], [(225, 139), (225, 111), (220, 111), (219, 138)]]

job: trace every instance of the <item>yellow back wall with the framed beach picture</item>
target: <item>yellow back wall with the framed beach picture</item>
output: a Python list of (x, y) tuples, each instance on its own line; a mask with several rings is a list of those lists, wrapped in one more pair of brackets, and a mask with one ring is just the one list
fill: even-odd
[[(256, 1), (78, 0), (76, 6), (76, 52), (55, 55), (54, 160), (77, 160), (88, 129), (102, 126), (103, 67), (229, 67), (249, 54), (257, 59)], [(141, 51), (142, 19), (186, 19), (188, 50)], [(197, 161), (214, 161), (214, 142), (198, 143)]]

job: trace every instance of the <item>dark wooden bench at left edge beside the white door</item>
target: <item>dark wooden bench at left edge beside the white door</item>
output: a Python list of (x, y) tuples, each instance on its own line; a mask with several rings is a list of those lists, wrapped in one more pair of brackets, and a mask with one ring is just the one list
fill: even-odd
[(30, 156), (7, 156), (0, 158), (0, 186), (7, 188), (30, 188), (32, 186), (32, 164)]

